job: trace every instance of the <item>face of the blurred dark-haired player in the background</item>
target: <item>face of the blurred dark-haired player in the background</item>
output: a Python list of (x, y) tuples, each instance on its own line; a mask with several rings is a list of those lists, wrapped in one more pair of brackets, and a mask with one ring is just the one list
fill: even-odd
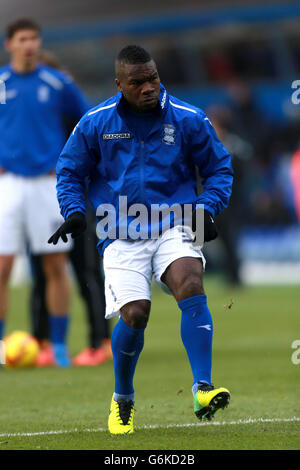
[(6, 41), (6, 49), (12, 59), (24, 64), (35, 62), (41, 47), (41, 37), (38, 31), (24, 29), (17, 31)]

